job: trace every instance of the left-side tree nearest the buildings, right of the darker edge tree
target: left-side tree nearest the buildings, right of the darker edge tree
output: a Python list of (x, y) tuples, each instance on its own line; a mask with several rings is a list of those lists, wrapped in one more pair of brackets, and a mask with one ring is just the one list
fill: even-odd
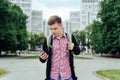
[(12, 23), (14, 23), (14, 27), (17, 30), (17, 47), (16, 50), (25, 50), (28, 47), (28, 34), (26, 29), (26, 20), (27, 16), (23, 13), (21, 8), (17, 5), (12, 5)]

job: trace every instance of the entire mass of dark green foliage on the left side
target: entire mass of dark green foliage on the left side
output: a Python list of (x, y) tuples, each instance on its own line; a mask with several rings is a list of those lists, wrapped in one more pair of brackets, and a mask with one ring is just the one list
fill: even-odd
[(0, 53), (27, 48), (27, 16), (9, 0), (0, 0)]

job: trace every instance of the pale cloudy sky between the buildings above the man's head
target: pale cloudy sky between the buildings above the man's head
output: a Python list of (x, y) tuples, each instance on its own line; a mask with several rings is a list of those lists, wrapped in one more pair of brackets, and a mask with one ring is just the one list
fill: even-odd
[(32, 10), (42, 10), (43, 19), (58, 15), (62, 20), (69, 19), (70, 11), (80, 10), (81, 0), (32, 0)]

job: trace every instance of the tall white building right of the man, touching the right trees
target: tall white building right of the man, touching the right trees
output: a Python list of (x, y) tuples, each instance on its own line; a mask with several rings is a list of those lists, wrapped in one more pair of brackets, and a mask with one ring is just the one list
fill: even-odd
[(87, 25), (97, 20), (100, 0), (81, 0), (81, 28), (84, 29)]

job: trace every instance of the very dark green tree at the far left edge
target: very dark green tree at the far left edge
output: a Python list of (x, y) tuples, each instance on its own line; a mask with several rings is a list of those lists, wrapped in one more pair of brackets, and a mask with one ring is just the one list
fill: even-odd
[(10, 25), (11, 4), (8, 0), (0, 0), (0, 54), (1, 51), (8, 51), (17, 43), (16, 36), (14, 36)]

